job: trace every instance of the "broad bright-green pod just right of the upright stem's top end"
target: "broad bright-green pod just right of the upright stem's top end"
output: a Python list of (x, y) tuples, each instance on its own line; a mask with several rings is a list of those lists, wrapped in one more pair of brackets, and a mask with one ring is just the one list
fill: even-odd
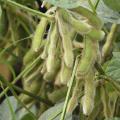
[(91, 40), (88, 36), (84, 38), (84, 50), (82, 58), (78, 64), (76, 77), (84, 77), (91, 67), (93, 67), (98, 53), (98, 41)]

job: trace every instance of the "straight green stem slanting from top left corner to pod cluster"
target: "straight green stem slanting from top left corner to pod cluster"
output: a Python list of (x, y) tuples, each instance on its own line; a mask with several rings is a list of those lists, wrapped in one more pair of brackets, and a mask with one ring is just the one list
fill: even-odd
[(18, 8), (21, 8), (22, 10), (26, 10), (26, 11), (30, 12), (31, 14), (34, 14), (34, 15), (37, 15), (37, 16), (40, 16), (40, 17), (45, 17), (45, 18), (47, 18), (47, 19), (50, 20), (50, 21), (53, 20), (53, 18), (54, 18), (54, 17), (51, 16), (51, 15), (46, 15), (46, 14), (44, 14), (44, 13), (42, 13), (42, 12), (33, 10), (33, 9), (31, 9), (31, 8), (28, 8), (28, 7), (24, 6), (24, 5), (21, 5), (21, 4), (17, 3), (17, 2), (14, 2), (14, 1), (12, 1), (12, 0), (5, 0), (4, 2), (5, 2), (7, 5), (16, 6), (16, 7), (18, 7)]

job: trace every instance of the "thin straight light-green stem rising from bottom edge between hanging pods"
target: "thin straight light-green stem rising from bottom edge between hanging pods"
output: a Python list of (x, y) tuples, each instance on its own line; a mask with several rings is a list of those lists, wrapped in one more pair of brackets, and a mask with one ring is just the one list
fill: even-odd
[(67, 91), (67, 95), (66, 95), (66, 99), (65, 99), (65, 103), (64, 103), (64, 107), (63, 107), (63, 111), (61, 114), (61, 118), (60, 120), (64, 120), (65, 119), (65, 115), (66, 115), (66, 110), (67, 110), (67, 106), (68, 106), (68, 101), (70, 98), (70, 94), (71, 94), (71, 90), (72, 90), (72, 86), (73, 86), (73, 82), (74, 82), (74, 77), (75, 77), (75, 73), (77, 70), (77, 65), (78, 65), (78, 57), (75, 60), (75, 64), (74, 64), (74, 68), (73, 68), (73, 72), (72, 72), (72, 76), (71, 76), (71, 80), (70, 80), (70, 84), (68, 87), (68, 91)]

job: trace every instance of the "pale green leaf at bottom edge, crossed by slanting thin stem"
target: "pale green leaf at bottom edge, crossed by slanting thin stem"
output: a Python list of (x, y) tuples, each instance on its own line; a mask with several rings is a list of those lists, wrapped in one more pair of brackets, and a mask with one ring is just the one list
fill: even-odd
[[(60, 120), (63, 105), (64, 102), (51, 107), (40, 116), (39, 120)], [(72, 120), (72, 114), (67, 114), (65, 120)]]

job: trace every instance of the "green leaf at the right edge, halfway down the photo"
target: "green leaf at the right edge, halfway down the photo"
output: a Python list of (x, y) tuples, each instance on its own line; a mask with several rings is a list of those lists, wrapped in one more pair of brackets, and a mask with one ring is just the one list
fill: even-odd
[(108, 76), (114, 80), (120, 81), (120, 52), (113, 52), (113, 58), (105, 71)]

